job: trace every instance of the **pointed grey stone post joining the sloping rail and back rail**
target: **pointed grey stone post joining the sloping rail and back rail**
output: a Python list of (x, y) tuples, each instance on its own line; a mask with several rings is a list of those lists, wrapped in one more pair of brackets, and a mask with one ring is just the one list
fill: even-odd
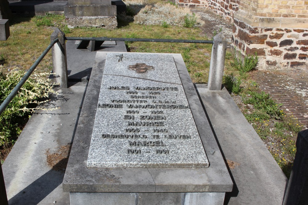
[(60, 88), (67, 88), (67, 61), (65, 49), (65, 34), (56, 28), (51, 34), (51, 42), (56, 38), (59, 41), (52, 47), (52, 67), (55, 83), (60, 85)]

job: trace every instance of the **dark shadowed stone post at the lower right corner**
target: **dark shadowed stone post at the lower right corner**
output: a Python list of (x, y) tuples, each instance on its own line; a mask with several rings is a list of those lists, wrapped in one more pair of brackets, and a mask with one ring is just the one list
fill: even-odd
[(308, 202), (308, 129), (298, 132), (296, 154), (282, 205)]

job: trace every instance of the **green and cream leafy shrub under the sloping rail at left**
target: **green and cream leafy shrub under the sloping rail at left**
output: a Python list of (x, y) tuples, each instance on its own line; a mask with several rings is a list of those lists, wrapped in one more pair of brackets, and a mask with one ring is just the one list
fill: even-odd
[[(5, 74), (0, 70), (0, 103), (5, 100), (24, 74), (22, 71), (11, 71)], [(46, 102), (47, 100), (43, 98), (47, 98), (49, 93), (55, 93), (47, 75), (49, 73), (32, 75), (0, 116), (0, 147), (14, 144), (29, 115), (35, 109), (43, 109), (35, 108), (34, 105)]]

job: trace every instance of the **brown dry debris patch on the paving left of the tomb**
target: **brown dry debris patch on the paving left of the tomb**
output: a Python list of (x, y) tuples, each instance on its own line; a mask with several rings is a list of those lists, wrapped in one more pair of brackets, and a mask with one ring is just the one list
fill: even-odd
[(46, 150), (47, 164), (53, 170), (65, 172), (72, 144)]

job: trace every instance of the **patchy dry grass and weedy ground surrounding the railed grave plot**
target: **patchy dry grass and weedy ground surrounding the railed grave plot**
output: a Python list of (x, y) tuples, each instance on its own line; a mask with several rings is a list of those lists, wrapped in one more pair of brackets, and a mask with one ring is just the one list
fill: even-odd
[[(50, 35), (59, 27), (66, 36), (78, 37), (128, 37), (128, 38), (166, 38), (166, 39), (198, 39), (208, 40), (197, 27), (186, 28), (171, 26), (163, 22), (162, 25), (141, 25), (130, 21), (124, 16), (119, 18), (119, 28), (104, 30), (101, 28), (75, 28), (65, 26), (64, 16), (48, 14), (47, 16), (23, 17), (15, 15), (10, 22), (10, 38), (0, 42), (1, 72), (12, 70), (26, 71), (39, 57), (50, 43)], [(217, 33), (218, 31), (213, 31)], [(152, 53), (181, 53), (193, 83), (207, 83), (210, 53), (210, 44), (159, 43), (159, 42), (126, 42), (129, 52)], [(250, 57), (249, 62), (253, 60)], [(281, 110), (281, 104), (271, 100), (271, 96), (261, 92), (257, 84), (255, 67), (247, 72), (237, 68), (236, 58), (230, 50), (225, 59), (224, 84), (231, 93), (234, 101), (252, 124), (256, 132), (270, 150), (274, 159), (282, 168), (287, 177), (290, 175), (294, 156), (297, 132), (303, 125), (294, 119), (292, 114)], [(36, 73), (51, 72), (51, 52), (43, 59), (36, 69)], [(17, 83), (17, 82), (16, 82)], [(27, 115), (26, 115), (27, 116)], [(20, 128), (25, 125), (18, 125)], [(236, 120), (236, 119), (235, 119)], [(240, 125), (238, 125), (240, 126)], [(2, 145), (1, 162), (5, 160), (17, 136)], [(60, 159), (61, 160), (61, 159)], [(236, 162), (228, 161), (229, 167)]]

